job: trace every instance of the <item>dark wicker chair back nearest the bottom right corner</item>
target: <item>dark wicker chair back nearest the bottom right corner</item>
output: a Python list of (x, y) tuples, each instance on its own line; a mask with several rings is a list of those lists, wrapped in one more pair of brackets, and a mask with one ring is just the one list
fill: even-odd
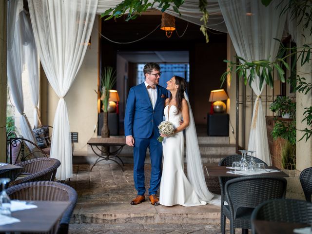
[(311, 225), (312, 203), (294, 199), (268, 200), (259, 204), (251, 216), (252, 233), (255, 234), (253, 220)]

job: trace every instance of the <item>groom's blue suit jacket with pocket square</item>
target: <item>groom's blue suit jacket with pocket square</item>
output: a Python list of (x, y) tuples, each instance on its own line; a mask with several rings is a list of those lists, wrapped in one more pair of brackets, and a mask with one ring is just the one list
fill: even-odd
[(156, 85), (157, 99), (155, 108), (143, 83), (130, 89), (125, 113), (125, 136), (149, 138), (152, 133), (159, 137), (157, 126), (163, 120), (163, 111), (168, 92), (164, 87)]

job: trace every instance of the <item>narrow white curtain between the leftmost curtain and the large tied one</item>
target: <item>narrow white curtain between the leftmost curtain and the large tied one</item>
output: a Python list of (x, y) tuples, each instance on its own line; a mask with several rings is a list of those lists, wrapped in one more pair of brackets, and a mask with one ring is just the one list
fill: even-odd
[(34, 38), (34, 32), (31, 27), (30, 17), (23, 12), (23, 21), (25, 32), (24, 52), (25, 65), (28, 71), (29, 87), (31, 90), (31, 100), (34, 106), (34, 127), (41, 127), (40, 111), (39, 111), (39, 66), (38, 54)]

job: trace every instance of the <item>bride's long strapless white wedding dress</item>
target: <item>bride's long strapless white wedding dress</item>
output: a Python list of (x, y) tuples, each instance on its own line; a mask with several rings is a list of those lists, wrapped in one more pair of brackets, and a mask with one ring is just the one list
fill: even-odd
[[(168, 108), (169, 106), (167, 105), (164, 109), (164, 115), (166, 117), (166, 121), (172, 122), (176, 128), (180, 125), (182, 113), (179, 113), (179, 115), (175, 115), (177, 108), (174, 105), (171, 105), (169, 110)], [(192, 118), (193, 118), (193, 115), (192, 115)], [(197, 141), (197, 138), (196, 138), (196, 141)], [(195, 192), (193, 185), (190, 183), (190, 181), (184, 174), (183, 132), (176, 133), (172, 137), (165, 137), (162, 143), (162, 147), (163, 147), (164, 159), (163, 159), (163, 169), (162, 169), (162, 176), (161, 176), (161, 182), (160, 182), (159, 203), (164, 206), (206, 205), (207, 204), (206, 202), (211, 200), (214, 197), (214, 195), (211, 194), (207, 189), (207, 191), (205, 191), (204, 199), (200, 199), (197, 193)], [(201, 159), (200, 159), (200, 165), (202, 167)], [(188, 167), (188, 170), (189, 170), (189, 167)], [(202, 174), (202, 176), (204, 175)], [(200, 186), (200, 187), (203, 187), (203, 186)], [(201, 189), (202, 188), (199, 188), (199, 190)]]

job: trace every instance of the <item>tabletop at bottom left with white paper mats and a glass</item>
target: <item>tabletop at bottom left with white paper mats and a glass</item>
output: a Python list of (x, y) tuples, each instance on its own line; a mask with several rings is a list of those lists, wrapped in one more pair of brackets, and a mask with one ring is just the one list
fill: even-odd
[(31, 201), (38, 208), (12, 212), (18, 223), (0, 226), (0, 232), (46, 233), (59, 222), (69, 201)]

